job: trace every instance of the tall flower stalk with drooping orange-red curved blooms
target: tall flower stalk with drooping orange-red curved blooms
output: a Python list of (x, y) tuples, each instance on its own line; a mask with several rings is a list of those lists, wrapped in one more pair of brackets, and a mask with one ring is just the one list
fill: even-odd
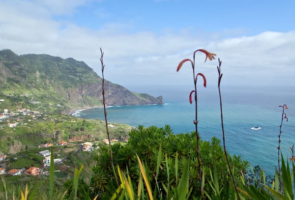
[(204, 87), (206, 87), (207, 85), (207, 81), (206, 81), (206, 77), (204, 76), (204, 74), (202, 73), (198, 73), (197, 76), (195, 76), (195, 55), (196, 55), (196, 52), (203, 52), (204, 54), (206, 54), (206, 59), (205, 59), (205, 62), (207, 60), (207, 58), (209, 58), (209, 60), (212, 60), (212, 59), (215, 59), (214, 56), (216, 56), (216, 54), (212, 54), (212, 53), (209, 53), (207, 52), (206, 50), (204, 49), (198, 49), (194, 52), (194, 59), (193, 61), (191, 59), (184, 59), (182, 60), (178, 66), (177, 66), (177, 72), (179, 71), (179, 69), (182, 67), (183, 63), (187, 62), (187, 61), (190, 61), (191, 65), (192, 65), (192, 68), (193, 68), (193, 76), (194, 76), (194, 86), (195, 86), (195, 90), (191, 91), (190, 95), (189, 95), (189, 102), (192, 104), (193, 103), (193, 100), (192, 100), (192, 94), (195, 92), (195, 108), (196, 108), (196, 119), (194, 120), (194, 124), (196, 126), (196, 135), (197, 135), (197, 156), (198, 156), (198, 162), (199, 162), (199, 176), (198, 176), (198, 179), (199, 179), (199, 183), (200, 183), (200, 195), (203, 199), (203, 187), (202, 187), (202, 171), (201, 171), (201, 166), (202, 166), (202, 160), (201, 160), (201, 155), (200, 155), (200, 144), (199, 144), (199, 140), (200, 140), (200, 135), (199, 135), (199, 132), (198, 132), (198, 98), (197, 98), (197, 78), (198, 76), (201, 76), (203, 78), (203, 81), (204, 81)]

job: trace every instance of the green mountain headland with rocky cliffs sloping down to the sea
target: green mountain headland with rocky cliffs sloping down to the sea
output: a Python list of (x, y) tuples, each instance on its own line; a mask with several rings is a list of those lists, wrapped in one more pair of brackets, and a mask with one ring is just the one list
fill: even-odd
[[(108, 106), (164, 103), (162, 96), (131, 92), (109, 81), (105, 81), (105, 92)], [(2, 95), (40, 106), (58, 104), (63, 113), (69, 113), (102, 106), (102, 78), (85, 62), (74, 58), (45, 54), (19, 56), (5, 49), (0, 51), (0, 98)]]

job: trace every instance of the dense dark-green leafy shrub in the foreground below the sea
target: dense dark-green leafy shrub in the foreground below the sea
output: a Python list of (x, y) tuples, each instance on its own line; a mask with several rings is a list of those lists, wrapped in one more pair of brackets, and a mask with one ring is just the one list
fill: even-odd
[[(138, 155), (145, 163), (152, 190), (159, 187), (161, 191), (164, 191), (165, 188), (162, 184), (156, 185), (156, 179), (160, 180), (165, 186), (169, 184), (169, 186), (173, 187), (175, 190), (180, 178), (179, 176), (177, 177), (177, 174), (184, 171), (186, 163), (190, 160), (189, 183), (192, 185), (192, 195), (196, 196), (198, 194), (198, 161), (196, 159), (195, 150), (197, 143), (196, 134), (195, 132), (177, 135), (171, 133), (172, 130), (169, 126), (165, 126), (165, 128), (157, 128), (155, 126), (144, 128), (143, 126), (139, 126), (138, 130), (132, 130), (129, 133), (130, 138), (126, 145), (112, 145), (114, 165), (118, 164), (122, 171), (127, 171), (128, 169), (130, 177), (139, 180), (140, 171), (138, 170), (138, 160), (136, 157), (136, 155)], [(161, 146), (160, 151), (158, 150), (159, 146)], [(228, 184), (227, 163), (223, 148), (220, 145), (220, 140), (212, 138), (210, 142), (201, 141), (200, 149), (204, 165), (203, 174), (205, 182), (210, 179), (210, 168), (215, 167), (218, 171), (221, 187), (226, 186)], [(110, 171), (109, 149), (107, 146), (102, 146), (100, 150), (100, 155), (95, 158), (97, 161), (96, 168), (100, 169), (97, 171), (103, 171), (104, 176), (109, 177), (105, 183), (106, 186), (113, 185), (113, 180), (111, 178), (113, 177), (113, 173)], [(160, 154), (158, 154), (159, 152)], [(166, 155), (167, 161), (165, 161)], [(245, 171), (248, 167), (248, 163), (243, 161), (240, 156), (231, 156), (230, 162), (236, 171), (236, 178), (241, 175), (241, 171)], [(160, 169), (158, 171), (157, 166)], [(167, 166), (170, 166), (169, 171), (167, 171)], [(165, 167), (166, 170), (163, 169)], [(94, 172), (93, 177), (95, 176), (96, 174)], [(205, 189), (211, 193), (208, 183), (205, 185)], [(111, 194), (114, 192), (114, 190), (109, 191)]]

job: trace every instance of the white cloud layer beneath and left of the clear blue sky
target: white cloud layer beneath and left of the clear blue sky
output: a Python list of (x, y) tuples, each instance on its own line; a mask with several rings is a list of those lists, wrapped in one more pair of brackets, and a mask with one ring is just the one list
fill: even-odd
[[(26, 9), (15, 6), (23, 3)], [(67, 2), (67, 4), (64, 4)], [(185, 29), (172, 33), (126, 33), (130, 24), (107, 24), (98, 30), (86, 29), (73, 22), (54, 21), (53, 14), (71, 14), (89, 0), (3, 1), (0, 3), (0, 49), (17, 54), (50, 54), (85, 61), (100, 75), (99, 47), (105, 52), (106, 78), (121, 85), (190, 84), (191, 67), (185, 64), (177, 73), (178, 63), (192, 58), (196, 49), (216, 53), (223, 61), (224, 84), (294, 85), (295, 31), (263, 32), (250, 37), (221, 39), (240, 34), (243, 29), (224, 29), (203, 40)], [(187, 30), (189, 30), (188, 28)], [(209, 39), (210, 38), (210, 39)], [(217, 60), (204, 63), (197, 53), (198, 72), (208, 84), (217, 82)]]

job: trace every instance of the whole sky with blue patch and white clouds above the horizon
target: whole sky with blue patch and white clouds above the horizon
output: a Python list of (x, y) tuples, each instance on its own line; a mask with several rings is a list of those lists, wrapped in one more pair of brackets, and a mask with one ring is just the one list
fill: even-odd
[[(193, 84), (206, 49), (223, 84), (295, 86), (294, 0), (0, 0), (0, 49), (85, 61), (123, 86)], [(196, 54), (217, 85), (218, 60)], [(198, 84), (203, 85), (202, 81)]]

